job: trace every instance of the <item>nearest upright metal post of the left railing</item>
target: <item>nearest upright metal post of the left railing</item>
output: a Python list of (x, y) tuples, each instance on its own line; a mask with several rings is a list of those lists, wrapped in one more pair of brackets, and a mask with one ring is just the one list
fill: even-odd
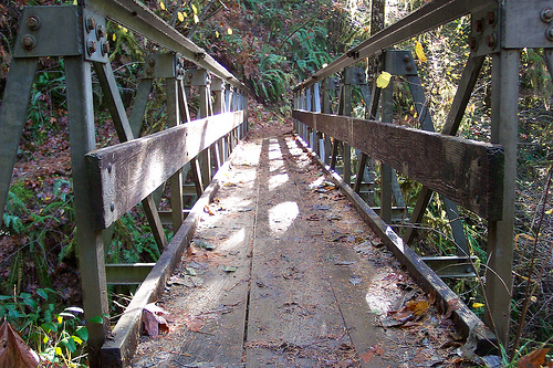
[(103, 324), (90, 318), (108, 314), (102, 231), (94, 227), (94, 208), (88, 199), (93, 181), (86, 172), (85, 155), (96, 148), (92, 97), (92, 66), (82, 56), (65, 57), (71, 161), (74, 185), (79, 270), (83, 290), (84, 314), (88, 329), (91, 367), (101, 367), (100, 348), (107, 333)]

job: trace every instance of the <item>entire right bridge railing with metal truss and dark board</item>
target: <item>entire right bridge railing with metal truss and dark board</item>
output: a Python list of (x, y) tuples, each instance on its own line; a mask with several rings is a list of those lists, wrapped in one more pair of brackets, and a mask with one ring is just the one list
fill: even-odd
[[(338, 180), (352, 187), (346, 189), (352, 199), (369, 213), (375, 230), (388, 238), (389, 246), (408, 263), (422, 284), (436, 288), (442, 301), (455, 298), (455, 294), (408, 248), (432, 192), (444, 198), (452, 234), (460, 249), (461, 256), (457, 261), (469, 264), (468, 270), (466, 266), (461, 270), (463, 273), (471, 274), (473, 270), (458, 206), (487, 220), (484, 320), (504, 344), (508, 343), (510, 320), (507, 301), (511, 299), (512, 291), (520, 51), (523, 48), (553, 46), (550, 23), (543, 18), (542, 6), (535, 1), (518, 0), (431, 1), (374, 33), (294, 88), (295, 132), (330, 168), (337, 169), (337, 160), (342, 161)], [(415, 60), (410, 51), (394, 50), (394, 46), (467, 14), (471, 17), (468, 40), (471, 53), (447, 118), (440, 122), (444, 128), (441, 133), (435, 133)], [(550, 50), (545, 55), (551, 64)], [(463, 139), (457, 133), (486, 57), (492, 62), (491, 136), (488, 143), (482, 143)], [(367, 61), (367, 72), (354, 67), (359, 61)], [(407, 80), (420, 129), (394, 124), (394, 83), (378, 87), (377, 76), (382, 72), (392, 74), (392, 81), (394, 75)], [(372, 78), (372, 85), (367, 83), (367, 76)], [(351, 117), (353, 86), (361, 92), (364, 119)], [(332, 109), (333, 96), (338, 101), (337, 111)], [(357, 153), (355, 171), (352, 148)], [(379, 218), (358, 196), (363, 186), (374, 179), (366, 170), (369, 158), (382, 162)], [(394, 211), (405, 213), (396, 171), (422, 183), (409, 219), (410, 227), (403, 240), (393, 232)], [(365, 197), (371, 199), (372, 194)], [(396, 207), (392, 206), (393, 198)], [(444, 265), (446, 261), (431, 257), (429, 264), (441, 262)], [(478, 324), (476, 316), (466, 306), (456, 313), (460, 325), (466, 327), (465, 332), (473, 330)]]

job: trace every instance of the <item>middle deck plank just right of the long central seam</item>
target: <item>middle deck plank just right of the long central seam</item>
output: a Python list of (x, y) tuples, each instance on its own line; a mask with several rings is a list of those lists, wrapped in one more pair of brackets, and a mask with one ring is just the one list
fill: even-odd
[[(284, 157), (292, 154), (282, 137), (263, 140), (255, 183), (259, 197), (244, 347), (248, 367), (320, 367), (317, 357), (338, 350), (342, 344), (351, 345), (325, 275), (325, 246), (314, 246), (313, 224), (300, 215), (307, 211), (304, 190), (291, 185), (271, 188), (275, 176), (286, 174), (290, 182), (301, 179), (295, 160)], [(302, 353), (294, 355), (292, 364), (283, 354), (286, 349)]]

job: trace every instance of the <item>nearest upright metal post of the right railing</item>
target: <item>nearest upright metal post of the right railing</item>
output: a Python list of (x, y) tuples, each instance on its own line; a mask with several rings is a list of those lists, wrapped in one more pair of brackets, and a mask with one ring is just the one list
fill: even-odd
[(491, 141), (505, 150), (504, 176), (500, 187), (503, 218), (488, 222), (488, 266), (486, 273), (486, 322), (495, 328), (498, 338), (508, 346), (511, 320), (512, 263), (514, 238), (514, 200), (517, 180), (517, 144), (519, 141), (519, 67), (520, 50), (503, 50), (493, 55)]

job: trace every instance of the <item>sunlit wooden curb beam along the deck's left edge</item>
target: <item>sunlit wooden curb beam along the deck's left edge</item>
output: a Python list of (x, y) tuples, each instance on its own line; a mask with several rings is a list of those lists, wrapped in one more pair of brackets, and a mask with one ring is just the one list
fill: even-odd
[(218, 174), (213, 178), (204, 196), (198, 199), (190, 210), (189, 215), (173, 238), (169, 246), (164, 251), (152, 272), (136, 291), (131, 304), (112, 330), (113, 338), (106, 340), (102, 346), (103, 367), (129, 366), (140, 337), (142, 311), (146, 304), (157, 299), (165, 290), (168, 277), (194, 236), (204, 213), (204, 207), (212, 201), (220, 188), (220, 179), (223, 178), (229, 164), (226, 165), (219, 171), (221, 177), (218, 177)]

